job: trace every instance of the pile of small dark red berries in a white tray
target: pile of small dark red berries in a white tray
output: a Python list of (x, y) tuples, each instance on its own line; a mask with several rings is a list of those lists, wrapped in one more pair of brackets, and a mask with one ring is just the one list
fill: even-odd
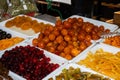
[(42, 80), (59, 67), (59, 64), (50, 62), (51, 59), (45, 56), (43, 50), (30, 45), (6, 50), (0, 61), (7, 69), (27, 80)]

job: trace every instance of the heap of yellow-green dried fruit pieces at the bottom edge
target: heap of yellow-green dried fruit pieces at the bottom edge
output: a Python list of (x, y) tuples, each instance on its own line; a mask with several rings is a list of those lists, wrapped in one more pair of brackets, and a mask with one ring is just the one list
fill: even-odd
[[(54, 80), (50, 78), (49, 80)], [(73, 68), (72, 66), (69, 69), (64, 68), (59, 75), (55, 76), (55, 80), (110, 80), (104, 78), (98, 74), (92, 74), (90, 72), (81, 71), (80, 68)]]

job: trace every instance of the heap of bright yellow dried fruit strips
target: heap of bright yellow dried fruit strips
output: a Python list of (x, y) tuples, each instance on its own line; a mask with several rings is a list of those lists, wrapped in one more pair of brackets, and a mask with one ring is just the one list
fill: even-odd
[(85, 65), (115, 80), (120, 80), (120, 52), (116, 54), (103, 50), (97, 50), (95, 53), (89, 52), (87, 57), (78, 64)]

